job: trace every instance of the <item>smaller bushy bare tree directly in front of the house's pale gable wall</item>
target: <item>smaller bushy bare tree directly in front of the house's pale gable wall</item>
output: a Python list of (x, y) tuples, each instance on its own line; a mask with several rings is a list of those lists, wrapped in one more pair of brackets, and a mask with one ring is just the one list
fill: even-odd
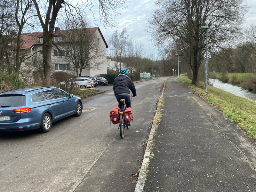
[(103, 45), (99, 43), (99, 38), (90, 32), (89, 27), (90, 24), (86, 20), (66, 23), (68, 33), (65, 38), (68, 43), (65, 49), (69, 52), (66, 58), (73, 64), (78, 77), (83, 69), (98, 69), (100, 65), (105, 64), (106, 53), (101, 51)]

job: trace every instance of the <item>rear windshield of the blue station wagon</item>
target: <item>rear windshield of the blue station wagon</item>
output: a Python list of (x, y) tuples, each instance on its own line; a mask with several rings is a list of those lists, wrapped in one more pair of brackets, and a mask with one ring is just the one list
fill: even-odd
[(25, 95), (0, 95), (0, 107), (20, 107), (25, 105)]

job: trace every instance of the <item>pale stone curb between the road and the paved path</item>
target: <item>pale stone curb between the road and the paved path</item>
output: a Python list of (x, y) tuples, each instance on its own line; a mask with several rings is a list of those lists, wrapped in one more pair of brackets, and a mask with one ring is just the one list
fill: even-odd
[[(164, 88), (163, 88), (163, 91), (162, 91), (162, 95), (159, 99), (161, 99), (163, 97), (163, 95), (164, 95)], [(159, 109), (159, 106), (156, 109), (155, 116), (158, 114), (158, 109)], [(147, 147), (146, 147), (146, 150), (145, 150), (142, 165), (140, 167), (140, 173), (139, 173), (139, 177), (138, 177), (137, 184), (136, 184), (134, 192), (142, 192), (143, 188), (144, 188), (145, 181), (146, 181), (147, 168), (148, 168), (149, 158), (150, 158), (150, 150), (152, 148), (153, 138), (154, 138), (154, 134), (156, 132), (155, 116), (154, 116), (153, 124), (151, 126), (151, 131), (150, 131), (150, 134), (149, 134), (149, 137), (148, 137), (148, 144), (147, 144)]]

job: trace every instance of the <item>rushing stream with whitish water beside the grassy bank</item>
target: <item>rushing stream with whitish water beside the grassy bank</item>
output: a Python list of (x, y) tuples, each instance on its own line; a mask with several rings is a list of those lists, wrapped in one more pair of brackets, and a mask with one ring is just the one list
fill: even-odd
[(228, 84), (228, 83), (222, 83), (219, 79), (208, 79), (208, 82), (213, 84), (213, 87), (217, 87), (226, 92), (230, 92), (239, 97), (243, 97), (245, 99), (252, 100), (252, 101), (256, 102), (256, 94), (249, 92), (247, 90), (244, 90), (241, 87), (234, 86), (234, 85)]

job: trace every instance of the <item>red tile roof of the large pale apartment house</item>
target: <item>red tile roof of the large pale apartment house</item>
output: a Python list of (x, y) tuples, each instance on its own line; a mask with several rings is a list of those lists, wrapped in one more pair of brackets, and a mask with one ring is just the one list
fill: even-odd
[[(99, 27), (87, 28), (87, 30), (88, 30), (90, 36), (92, 36), (96, 32), (96, 30), (99, 30), (100, 35), (101, 35), (104, 43), (106, 44), (106, 47), (108, 48), (108, 44), (107, 44), (105, 38), (103, 37)], [(66, 36), (68, 31), (69, 30), (57, 30), (56, 32), (54, 31), (54, 36)], [(43, 32), (21, 34), (20, 49), (28, 49), (34, 44), (43, 44), (43, 43), (40, 43), (40, 38), (42, 38), (42, 37), (43, 37)], [(65, 41), (65, 38), (63, 38), (63, 40), (61, 42), (67, 42), (67, 40)]]

